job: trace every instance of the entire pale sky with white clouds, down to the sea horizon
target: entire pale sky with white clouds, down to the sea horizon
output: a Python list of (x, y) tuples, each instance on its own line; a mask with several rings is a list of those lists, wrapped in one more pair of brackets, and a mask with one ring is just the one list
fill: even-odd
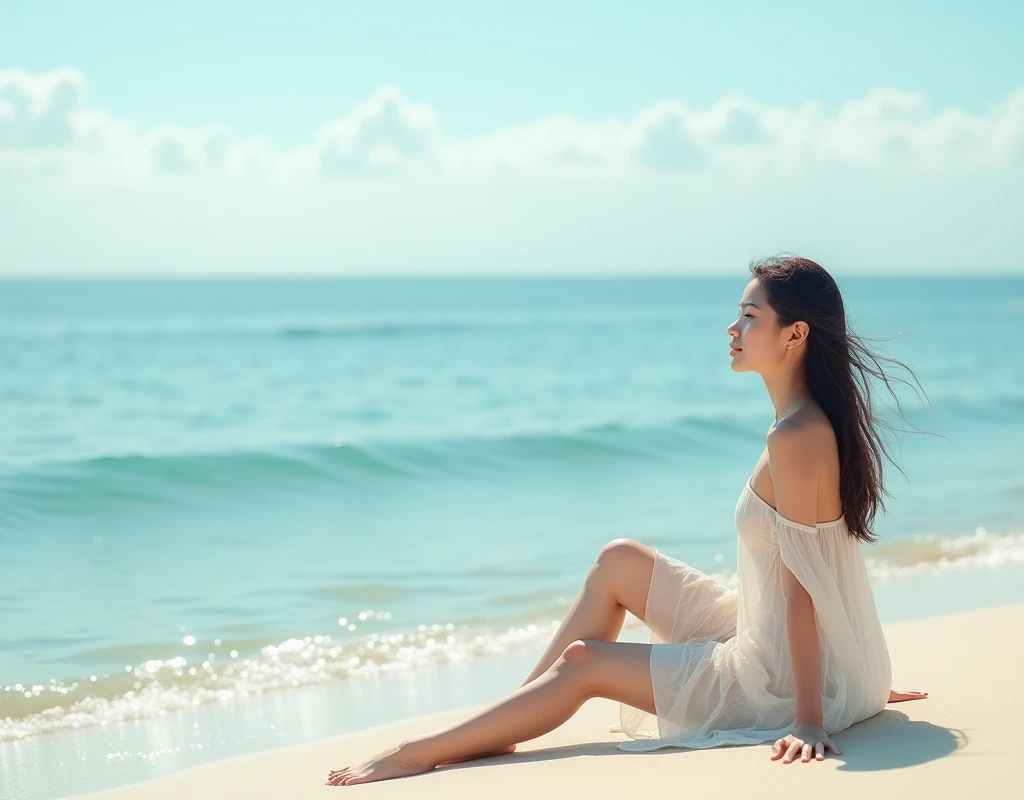
[(4, 16), (0, 277), (1024, 273), (1011, 0)]

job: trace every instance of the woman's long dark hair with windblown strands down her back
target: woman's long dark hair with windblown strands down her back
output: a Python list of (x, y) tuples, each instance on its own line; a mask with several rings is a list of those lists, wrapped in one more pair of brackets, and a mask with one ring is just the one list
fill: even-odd
[[(880, 426), (894, 428), (871, 408), (868, 377), (885, 381), (901, 415), (899, 398), (880, 362), (899, 365), (919, 386), (921, 382), (905, 364), (871, 352), (863, 344), (865, 337), (850, 330), (839, 286), (819, 264), (795, 255), (769, 256), (751, 262), (751, 275), (764, 287), (768, 304), (775, 310), (776, 333), (797, 321), (810, 326), (804, 377), (836, 431), (843, 515), (852, 536), (876, 542), (871, 524), (879, 508), (885, 508), (882, 495), (892, 497), (883, 481), (882, 456), (903, 470), (889, 456), (880, 435)], [(910, 385), (901, 378), (895, 380)]]

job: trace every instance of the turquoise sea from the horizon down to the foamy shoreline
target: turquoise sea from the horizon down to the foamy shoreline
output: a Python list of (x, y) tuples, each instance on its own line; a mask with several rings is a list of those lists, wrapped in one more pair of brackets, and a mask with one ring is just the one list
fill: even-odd
[[(616, 537), (732, 581), (746, 280), (0, 283), (7, 788), (60, 796), (5, 748), (532, 651)], [(1024, 279), (839, 282), (940, 434), (891, 439), (884, 615), (1024, 599)], [(90, 787), (156, 769), (91, 741)]]

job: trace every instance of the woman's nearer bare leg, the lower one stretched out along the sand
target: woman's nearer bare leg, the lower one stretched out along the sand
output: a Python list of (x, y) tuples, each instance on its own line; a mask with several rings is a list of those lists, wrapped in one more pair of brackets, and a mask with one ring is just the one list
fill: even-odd
[(536, 739), (561, 725), (590, 698), (602, 697), (656, 713), (650, 651), (656, 645), (599, 640), (570, 642), (537, 679), (457, 725), (402, 742), (361, 764), (332, 770), (329, 784), (366, 784), (416, 774), (480, 751)]

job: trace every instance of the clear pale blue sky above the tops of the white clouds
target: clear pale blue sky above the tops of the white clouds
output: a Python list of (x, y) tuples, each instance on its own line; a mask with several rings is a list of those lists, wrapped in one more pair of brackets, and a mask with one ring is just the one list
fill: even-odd
[[(632, 114), (729, 92), (830, 110), (879, 86), (982, 112), (1024, 81), (1024, 3), (15, 3), (0, 53), (73, 66), (140, 122), (229, 122), (301, 143), (378, 86), (476, 135), (554, 113)], [(727, 10), (723, 10), (726, 9)]]

